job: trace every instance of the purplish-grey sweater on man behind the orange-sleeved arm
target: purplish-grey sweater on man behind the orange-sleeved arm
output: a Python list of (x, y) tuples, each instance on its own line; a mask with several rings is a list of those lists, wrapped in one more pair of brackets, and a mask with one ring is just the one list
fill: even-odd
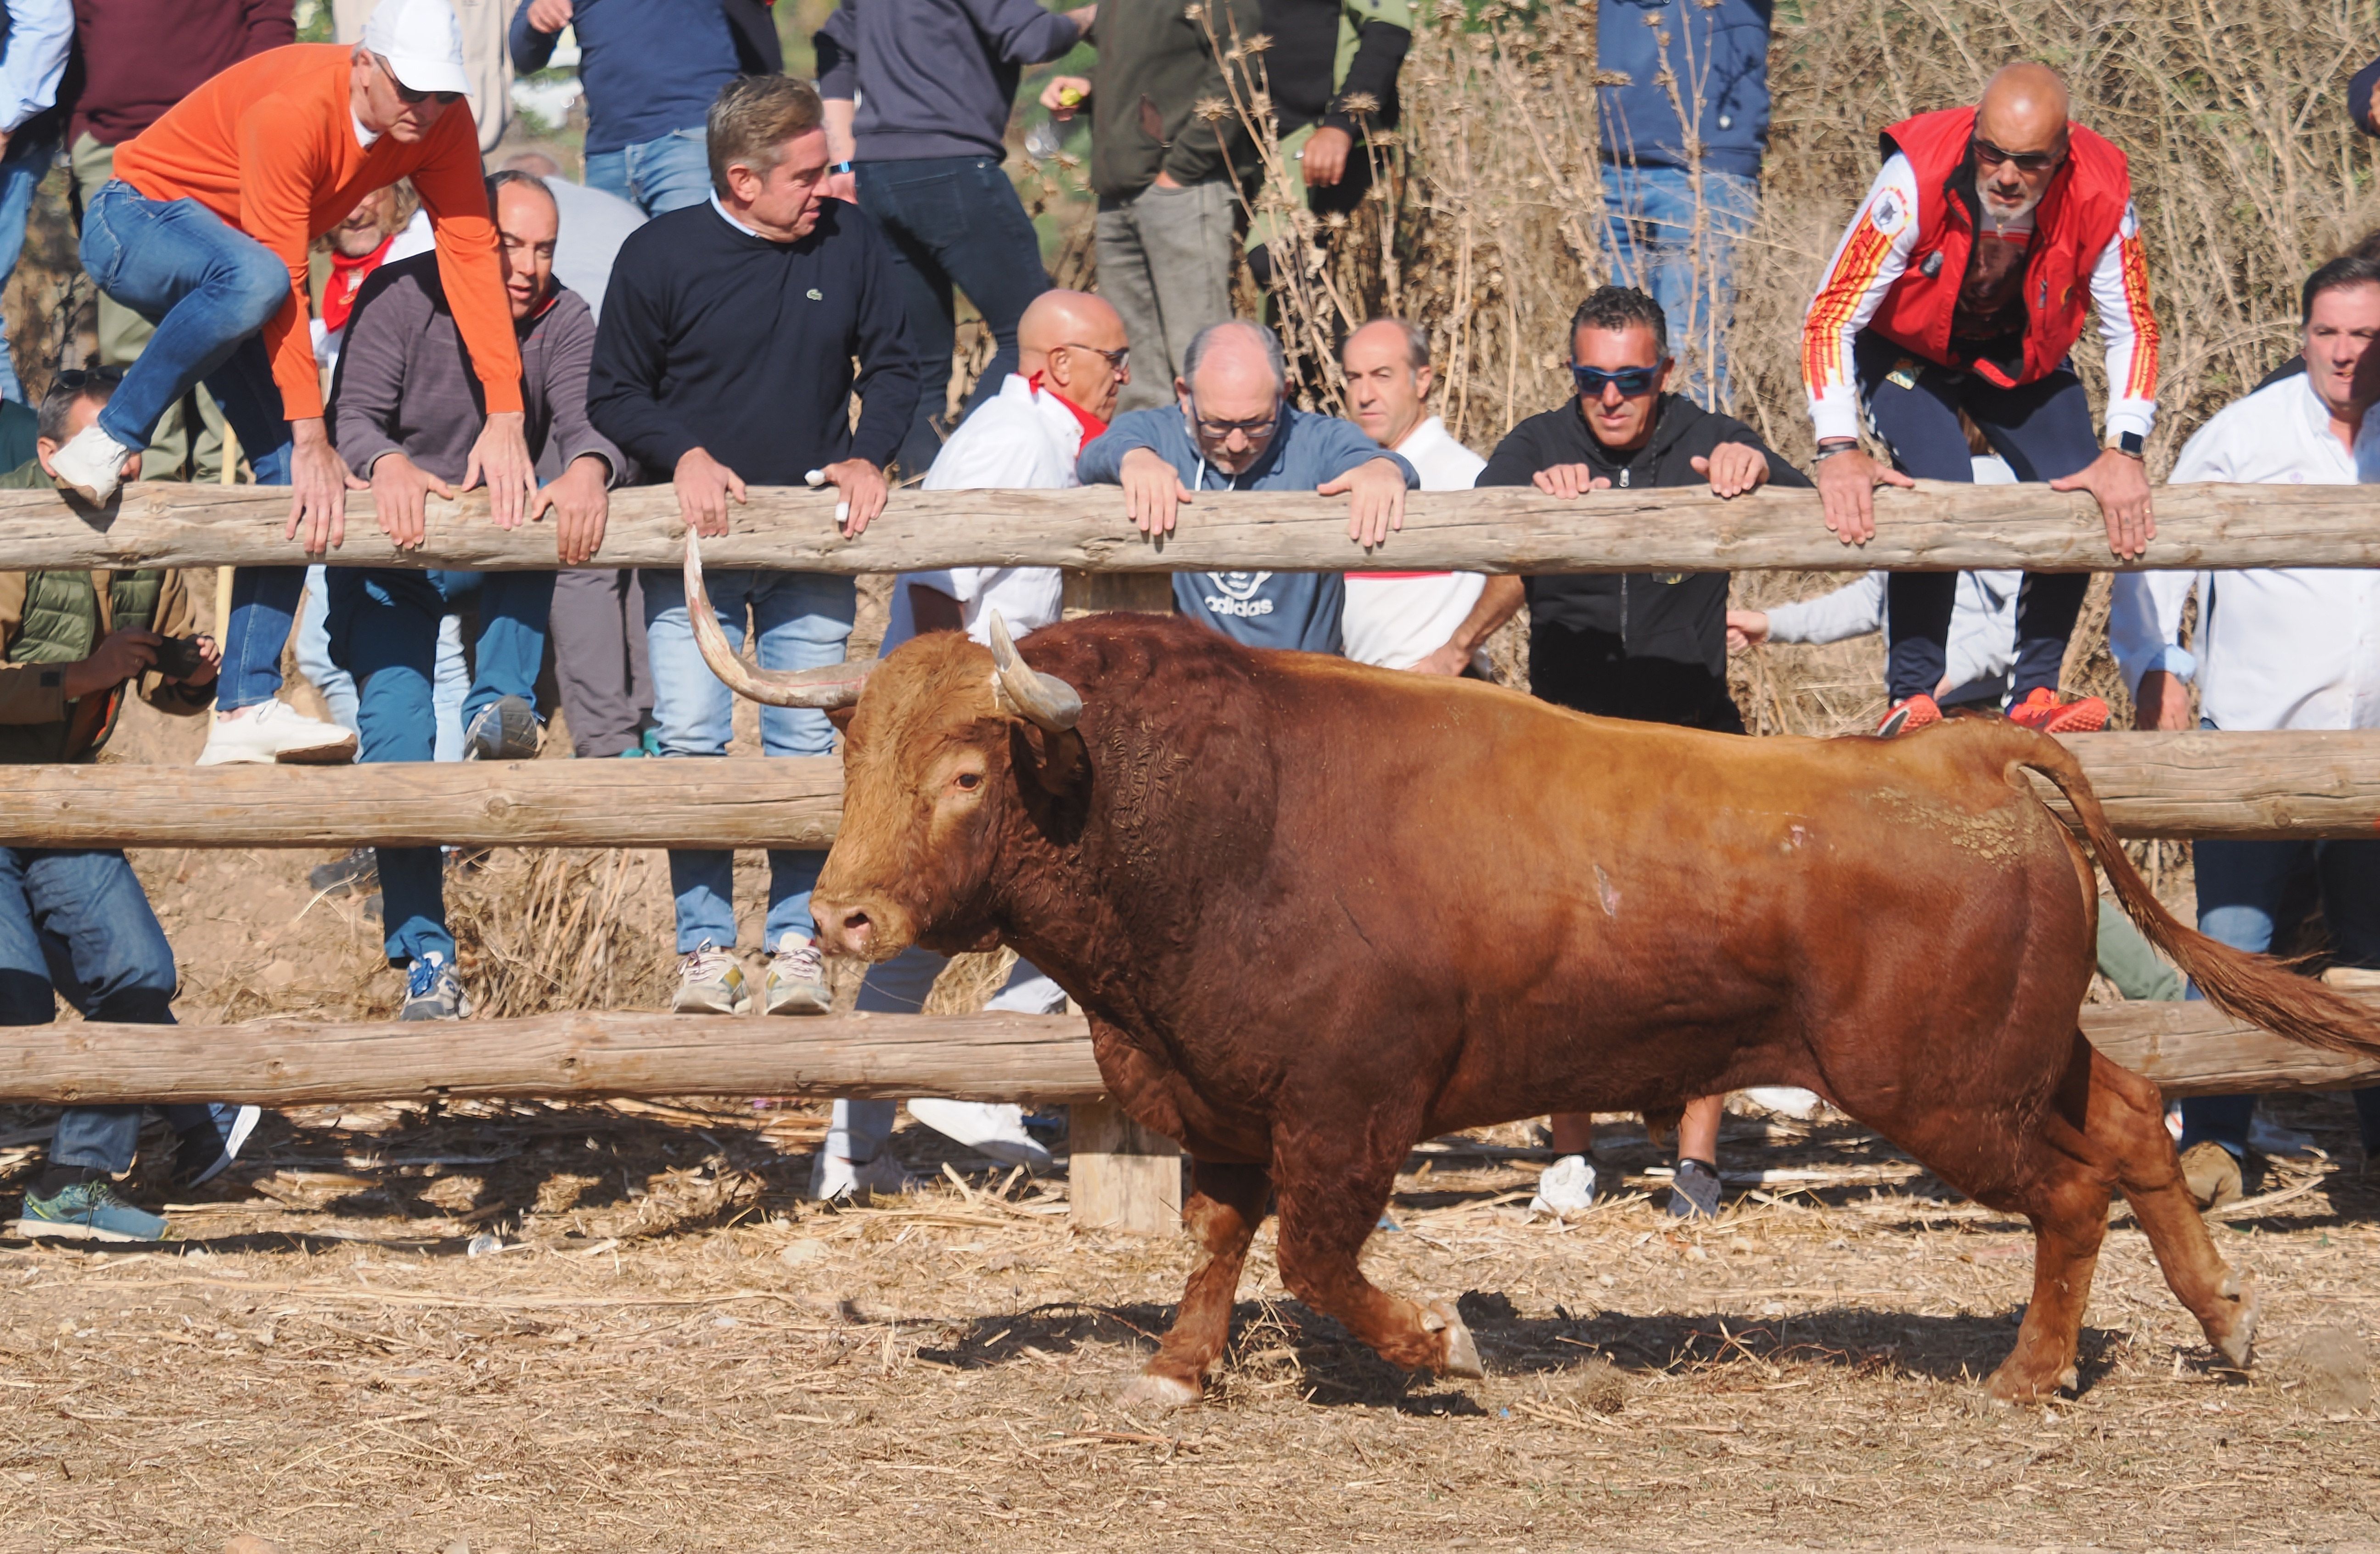
[[(514, 333), (538, 478), (550, 481), (571, 459), (595, 455), (619, 483), (628, 459), (588, 421), (595, 314), (585, 297), (557, 286), (545, 312), (514, 324)], [(338, 457), (362, 478), (371, 478), (371, 464), (388, 452), (402, 452), (440, 481), (462, 478), (488, 409), (438, 286), (438, 255), (383, 264), (364, 281), (324, 414)]]

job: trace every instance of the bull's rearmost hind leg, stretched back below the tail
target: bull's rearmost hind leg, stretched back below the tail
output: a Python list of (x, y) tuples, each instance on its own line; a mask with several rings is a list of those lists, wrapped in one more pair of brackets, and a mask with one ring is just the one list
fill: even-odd
[(2247, 1268), (2223, 1261), (2199, 1207), (2190, 1202), (2182, 1161), (2166, 1133), (2163, 1095), (2142, 1076), (2092, 1052), (2085, 1128), (2113, 1161), (2116, 1185), (2132, 1204), (2132, 1218), (2147, 1233), (2173, 1295), (2199, 1318), (2206, 1342), (2247, 1368), (2256, 1340), (2256, 1280)]

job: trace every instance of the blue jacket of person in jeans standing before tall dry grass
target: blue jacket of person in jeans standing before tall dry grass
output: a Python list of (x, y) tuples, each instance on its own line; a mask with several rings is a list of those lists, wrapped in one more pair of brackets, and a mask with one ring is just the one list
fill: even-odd
[(1768, 150), (1768, 17), (1775, 0), (1597, 0), (1595, 64), (1628, 76), (1595, 90), (1604, 162), (1685, 167), (1685, 129), (1661, 83), (1661, 40), (1678, 100), (1697, 109), (1702, 164), (1761, 176)]

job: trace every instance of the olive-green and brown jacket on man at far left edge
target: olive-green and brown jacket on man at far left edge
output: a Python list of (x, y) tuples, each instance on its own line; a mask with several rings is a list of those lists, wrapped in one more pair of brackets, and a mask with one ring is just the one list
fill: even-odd
[[(0, 490), (57, 490), (40, 462), (0, 474)], [(124, 688), (79, 700), (64, 697), (64, 676), (50, 664), (90, 657), (109, 631), (143, 626), (188, 635), (195, 614), (178, 571), (0, 571), (0, 766), (88, 762), (117, 728)], [(21, 669), (19, 669), (21, 666)], [(195, 714), (214, 685), (190, 688), (140, 676), (152, 707)]]

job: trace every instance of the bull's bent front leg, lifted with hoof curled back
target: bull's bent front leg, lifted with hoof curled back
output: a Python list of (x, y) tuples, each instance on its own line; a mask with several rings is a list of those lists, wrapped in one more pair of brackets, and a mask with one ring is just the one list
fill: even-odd
[[(1378, 1140), (1380, 1133), (1373, 1133)], [(1357, 1257), (1380, 1223), (1397, 1185), (1407, 1142), (1333, 1138), (1283, 1149), (1276, 1140), (1273, 1183), (1280, 1188), (1280, 1280), (1297, 1299), (1340, 1318), (1349, 1333), (1402, 1371), (1480, 1376), (1478, 1347), (1449, 1302), (1421, 1307), (1364, 1278)]]

